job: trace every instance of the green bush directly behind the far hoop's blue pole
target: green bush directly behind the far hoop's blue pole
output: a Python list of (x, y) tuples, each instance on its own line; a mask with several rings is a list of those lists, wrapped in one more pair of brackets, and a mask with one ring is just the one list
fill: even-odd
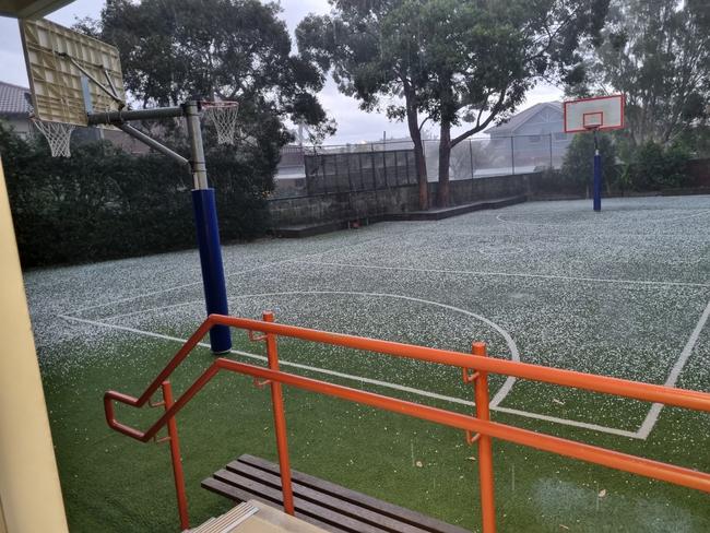
[[(604, 183), (616, 181), (616, 149), (612, 139), (599, 133), (599, 152), (602, 156), (602, 179)], [(594, 135), (577, 133), (567, 149), (563, 161), (563, 176), (570, 181), (588, 183), (594, 177)]]

